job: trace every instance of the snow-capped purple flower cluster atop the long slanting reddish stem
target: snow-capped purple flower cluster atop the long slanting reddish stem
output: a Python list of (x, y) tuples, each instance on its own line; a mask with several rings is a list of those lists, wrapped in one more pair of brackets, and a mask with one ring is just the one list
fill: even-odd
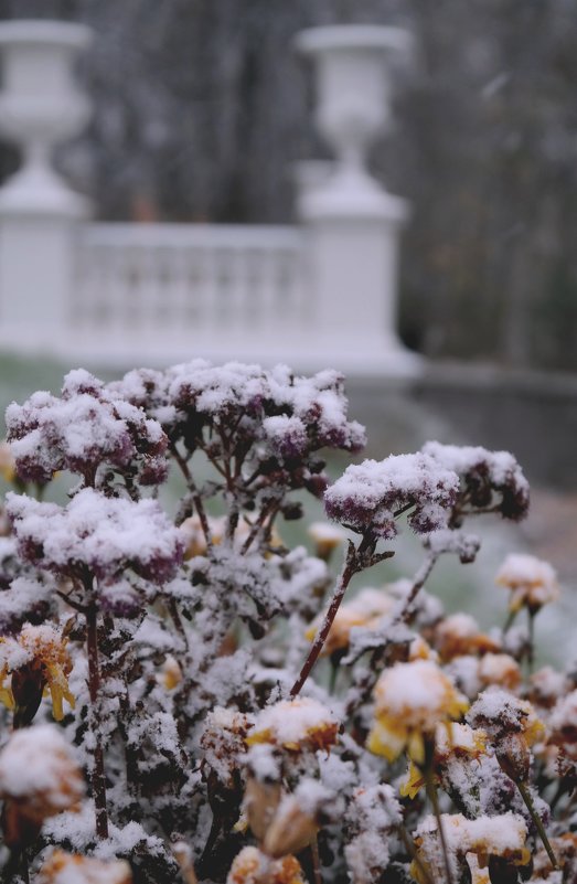
[(458, 490), (459, 477), (431, 457), (397, 455), (348, 467), (325, 491), (324, 507), (345, 528), (389, 540), (404, 511), (418, 534), (446, 528)]

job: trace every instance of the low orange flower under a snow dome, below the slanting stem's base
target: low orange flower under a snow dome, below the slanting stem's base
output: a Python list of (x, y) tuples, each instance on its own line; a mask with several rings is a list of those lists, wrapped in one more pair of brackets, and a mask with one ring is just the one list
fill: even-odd
[(270, 743), (289, 752), (328, 749), (336, 742), (339, 722), (333, 713), (310, 697), (281, 700), (255, 720), (246, 742)]

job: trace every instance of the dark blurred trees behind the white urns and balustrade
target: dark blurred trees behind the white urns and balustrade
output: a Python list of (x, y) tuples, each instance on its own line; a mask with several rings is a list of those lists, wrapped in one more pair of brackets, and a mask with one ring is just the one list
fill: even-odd
[[(0, 0), (96, 32), (95, 115), (60, 157), (99, 217), (292, 220), (291, 169), (327, 156), (302, 28), (416, 38), (375, 169), (413, 203), (402, 334), (430, 358), (577, 369), (574, 0)], [(0, 171), (14, 168), (4, 149)]]

